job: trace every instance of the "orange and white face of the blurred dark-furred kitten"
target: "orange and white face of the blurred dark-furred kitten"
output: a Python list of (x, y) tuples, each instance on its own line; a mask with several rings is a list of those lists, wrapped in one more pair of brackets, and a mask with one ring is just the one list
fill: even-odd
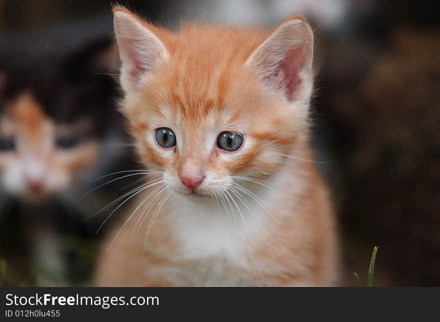
[(86, 122), (57, 125), (31, 93), (0, 114), (0, 184), (11, 194), (40, 199), (62, 192), (96, 161), (97, 144), (81, 133)]

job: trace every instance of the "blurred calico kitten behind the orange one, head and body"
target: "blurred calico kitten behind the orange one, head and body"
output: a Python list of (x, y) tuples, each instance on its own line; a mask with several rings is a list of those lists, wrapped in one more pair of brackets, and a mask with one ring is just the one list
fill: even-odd
[(90, 239), (95, 229), (81, 220), (110, 198), (105, 190), (87, 200), (81, 195), (91, 179), (120, 170), (118, 161), (126, 153), (114, 104), (116, 82), (98, 74), (117, 66), (117, 51), (110, 37), (74, 47), (47, 39), (5, 42), (0, 52), (0, 257), (22, 280), (29, 280), (33, 266), (63, 275), (74, 263), (60, 256), (71, 258), (77, 250), (60, 255), (61, 235)]

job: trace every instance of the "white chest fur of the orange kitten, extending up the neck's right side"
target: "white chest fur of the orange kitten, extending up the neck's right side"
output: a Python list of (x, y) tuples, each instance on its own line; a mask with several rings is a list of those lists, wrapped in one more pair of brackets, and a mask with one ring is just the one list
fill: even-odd
[[(267, 182), (270, 188), (260, 185), (252, 189), (252, 197), (243, 191), (239, 196), (230, 193), (229, 200), (214, 198), (204, 203), (177, 197), (169, 216), (182, 258), (220, 257), (245, 267), (247, 257), (243, 254), (246, 250), (254, 247), (260, 237), (276, 225), (279, 216), (287, 212), (294, 215), (291, 211), (282, 213), (275, 207), (282, 198), (277, 188), (282, 189), (285, 180), (292, 178), (281, 173), (275, 175)], [(275, 208), (277, 210), (273, 211)]]

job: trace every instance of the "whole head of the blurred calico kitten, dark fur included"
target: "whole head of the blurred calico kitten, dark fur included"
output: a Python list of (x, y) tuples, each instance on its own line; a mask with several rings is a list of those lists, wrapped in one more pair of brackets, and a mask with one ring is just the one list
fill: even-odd
[(4, 42), (0, 193), (77, 199), (88, 190), (88, 181), (119, 170), (117, 141), (123, 137), (115, 121), (117, 85), (102, 75), (116, 72), (115, 44), (109, 37), (74, 45), (45, 36)]

